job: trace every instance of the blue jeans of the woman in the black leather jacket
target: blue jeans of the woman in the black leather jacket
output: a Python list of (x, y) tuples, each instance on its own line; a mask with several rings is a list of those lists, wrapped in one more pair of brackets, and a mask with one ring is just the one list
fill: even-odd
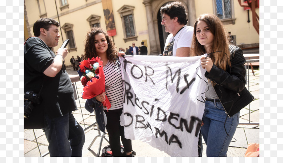
[(205, 101), (205, 108), (203, 113), (203, 123), (201, 128), (203, 139), (206, 148), (206, 155), (208, 157), (223, 156), (227, 157), (228, 147), (232, 140), (233, 135), (239, 124), (240, 112), (232, 117), (228, 117), (225, 129), (224, 123), (227, 117), (225, 110), (220, 102)]

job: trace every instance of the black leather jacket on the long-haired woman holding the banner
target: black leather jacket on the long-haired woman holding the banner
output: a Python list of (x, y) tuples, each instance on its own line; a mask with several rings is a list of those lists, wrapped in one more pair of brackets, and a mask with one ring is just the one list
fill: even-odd
[(230, 45), (231, 67), (226, 71), (213, 65), (210, 72), (204, 74), (205, 77), (214, 81), (214, 90), (225, 108), (226, 114), (230, 117), (238, 113), (242, 108), (252, 102), (254, 97), (245, 87), (246, 62), (241, 48)]

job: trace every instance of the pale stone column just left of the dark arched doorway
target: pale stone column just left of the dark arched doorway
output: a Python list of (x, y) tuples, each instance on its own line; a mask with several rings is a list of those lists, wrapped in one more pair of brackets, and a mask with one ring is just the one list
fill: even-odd
[(143, 4), (147, 13), (147, 29), (150, 44), (150, 55), (158, 55), (157, 44), (154, 33), (153, 16), (151, 10), (151, 0), (144, 0)]

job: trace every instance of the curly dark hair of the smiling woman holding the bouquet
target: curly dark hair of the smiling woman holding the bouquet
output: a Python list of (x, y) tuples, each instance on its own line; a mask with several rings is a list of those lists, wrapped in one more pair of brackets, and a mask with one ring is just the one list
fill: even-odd
[(96, 49), (94, 45), (94, 37), (95, 35), (102, 33), (104, 34), (106, 41), (108, 43), (108, 48), (107, 48), (107, 59), (111, 62), (115, 62), (117, 58), (117, 50), (116, 46), (114, 45), (114, 42), (110, 39), (110, 36), (101, 28), (93, 27), (90, 31), (86, 33), (86, 44), (85, 44), (85, 54), (83, 55), (83, 59), (87, 58), (96, 58)]

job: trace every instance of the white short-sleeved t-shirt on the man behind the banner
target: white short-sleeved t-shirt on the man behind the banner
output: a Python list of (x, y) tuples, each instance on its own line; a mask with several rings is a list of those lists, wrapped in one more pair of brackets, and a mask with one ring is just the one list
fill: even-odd
[(168, 56), (176, 56), (176, 51), (178, 48), (190, 48), (193, 34), (194, 28), (187, 25), (184, 25), (184, 28), (175, 35), (173, 41), (173, 34), (169, 34), (165, 42), (163, 53), (166, 55), (168, 51)]

